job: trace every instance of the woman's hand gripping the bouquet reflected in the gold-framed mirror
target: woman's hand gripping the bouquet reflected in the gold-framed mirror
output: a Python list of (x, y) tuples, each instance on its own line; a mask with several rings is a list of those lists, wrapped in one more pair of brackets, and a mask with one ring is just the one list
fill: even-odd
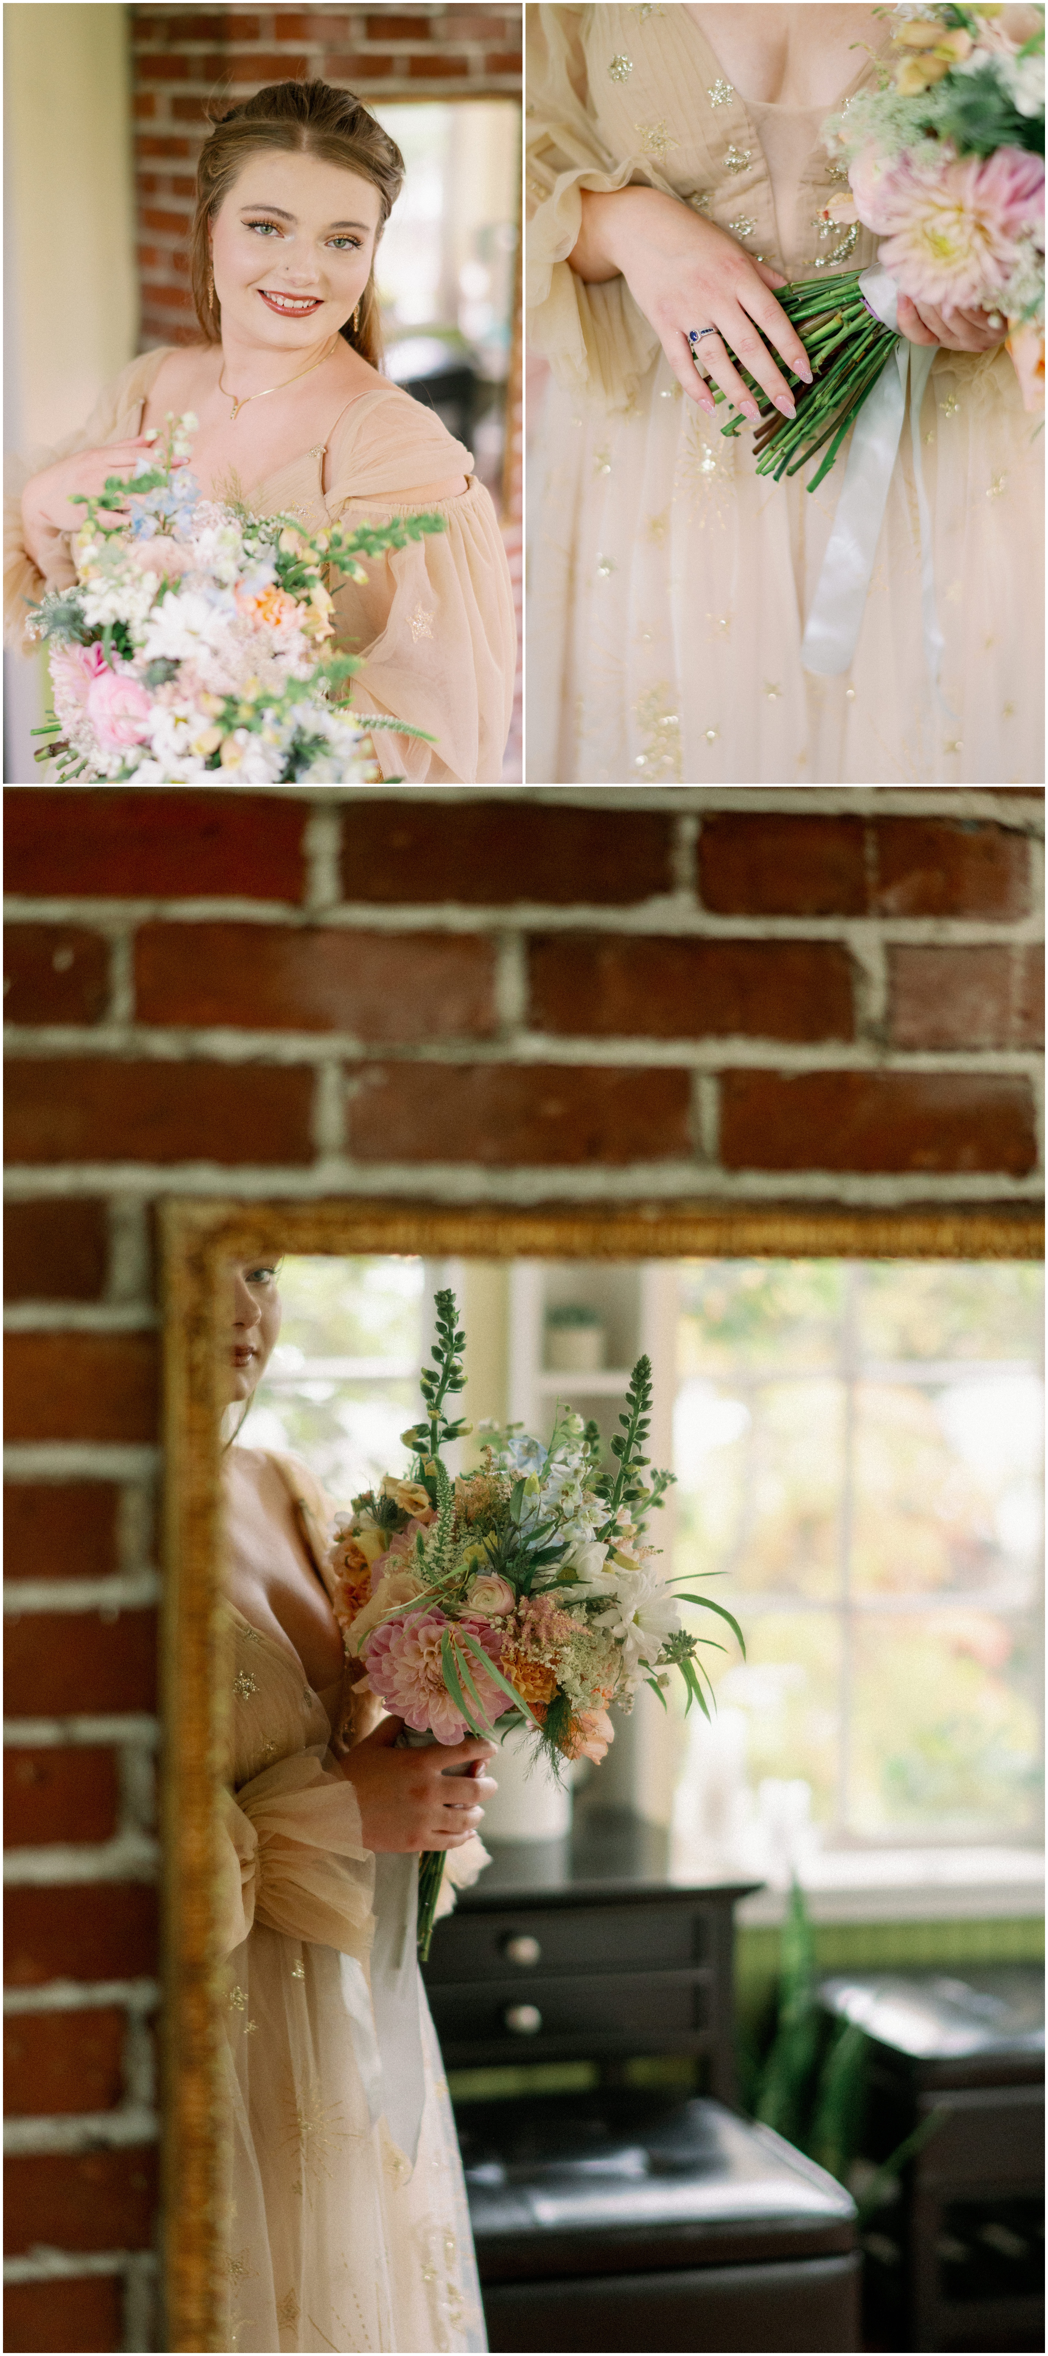
[(400, 1727), (403, 1718), (384, 1718), (374, 1734), (339, 1760), (360, 1802), (365, 1847), (382, 1854), (462, 1849), (480, 1824), (478, 1802), (497, 1791), (490, 1776), (466, 1776), (464, 1769), (495, 1758), (495, 1743), (471, 1736), (464, 1743), (396, 1751)]

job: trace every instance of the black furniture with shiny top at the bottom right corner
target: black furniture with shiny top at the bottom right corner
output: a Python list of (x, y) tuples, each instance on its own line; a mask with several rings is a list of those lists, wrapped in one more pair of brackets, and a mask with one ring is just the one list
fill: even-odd
[(869, 2212), (881, 2349), (1043, 2349), (1043, 1977), (1006, 1967), (829, 1979), (871, 2038), (862, 2158), (926, 2142)]

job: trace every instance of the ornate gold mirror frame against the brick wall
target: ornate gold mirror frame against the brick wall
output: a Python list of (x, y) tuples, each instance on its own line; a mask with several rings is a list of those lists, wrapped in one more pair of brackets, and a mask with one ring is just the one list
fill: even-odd
[(214, 2003), (219, 1715), (221, 1272), (290, 1253), (424, 1258), (959, 1258), (1032, 1260), (1027, 1204), (601, 1204), (518, 1211), (412, 1202), (167, 1202), (162, 1743), (162, 2231), (170, 2349), (221, 2349), (221, 2029)]

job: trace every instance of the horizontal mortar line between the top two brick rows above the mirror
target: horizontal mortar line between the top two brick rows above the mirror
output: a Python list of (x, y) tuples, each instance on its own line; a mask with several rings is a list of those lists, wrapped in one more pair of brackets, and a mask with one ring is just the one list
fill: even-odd
[(878, 940), (886, 947), (1039, 947), (1043, 912), (1027, 916), (718, 916), (699, 907), (695, 893), (655, 893), (636, 907), (596, 907), (572, 902), (546, 907), (518, 900), (506, 907), (466, 907), (438, 900), (431, 907), (339, 900), (323, 912), (294, 900), (186, 898), (186, 900), (106, 900), (12, 893), (5, 900), (7, 924), (89, 926), (106, 940), (132, 938), (144, 924), (271, 924), (285, 931), (323, 933), (629, 933), (664, 940), (812, 940), (838, 942), (862, 954)]

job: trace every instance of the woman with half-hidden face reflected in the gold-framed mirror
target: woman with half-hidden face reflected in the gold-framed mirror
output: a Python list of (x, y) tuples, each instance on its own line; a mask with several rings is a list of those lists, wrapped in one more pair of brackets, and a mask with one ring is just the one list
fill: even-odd
[[(231, 1268), (236, 1432), (280, 1336), (280, 1263)], [(294, 1456), (224, 1449), (219, 2017), (228, 2106), (221, 2337), (480, 2349), (447, 2083), (417, 1974), (414, 1857), (462, 1849), (492, 1743), (396, 1748), (344, 1649), (332, 1501)], [(464, 1781), (469, 1776), (469, 1781)], [(195, 2344), (203, 2344), (195, 2340)]]

